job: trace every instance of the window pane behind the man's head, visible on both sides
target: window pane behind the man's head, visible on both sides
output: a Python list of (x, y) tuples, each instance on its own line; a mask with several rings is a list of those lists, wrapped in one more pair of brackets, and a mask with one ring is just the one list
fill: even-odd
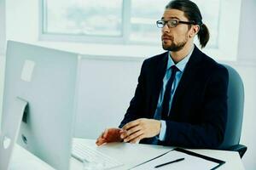
[[(220, 0), (195, 0), (201, 9), (203, 19), (211, 20), (207, 26), (211, 30), (210, 46), (218, 44), (218, 15)], [(156, 28), (155, 21), (160, 20), (163, 10), (169, 0), (131, 0), (131, 33), (132, 42), (156, 42), (160, 40), (160, 30)], [(154, 4), (154, 5), (152, 5)]]

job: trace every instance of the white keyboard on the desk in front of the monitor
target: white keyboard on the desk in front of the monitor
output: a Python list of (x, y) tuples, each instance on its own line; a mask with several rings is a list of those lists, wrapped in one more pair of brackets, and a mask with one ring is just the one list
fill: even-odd
[(122, 166), (123, 163), (98, 150), (93, 150), (82, 142), (73, 142), (72, 156), (79, 161), (102, 164), (102, 169)]

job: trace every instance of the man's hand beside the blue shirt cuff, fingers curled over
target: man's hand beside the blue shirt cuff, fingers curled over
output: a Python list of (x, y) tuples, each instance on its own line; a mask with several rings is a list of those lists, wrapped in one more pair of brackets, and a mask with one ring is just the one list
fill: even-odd
[(152, 138), (160, 133), (161, 122), (154, 119), (137, 119), (122, 127), (121, 139), (125, 142), (136, 143), (145, 138)]

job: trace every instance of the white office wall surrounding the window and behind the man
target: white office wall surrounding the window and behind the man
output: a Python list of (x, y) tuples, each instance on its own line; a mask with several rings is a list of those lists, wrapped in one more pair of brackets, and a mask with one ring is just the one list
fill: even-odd
[[(0, 0), (0, 34), (4, 32), (3, 0)], [(9, 0), (6, 2), (6, 37), (21, 42), (61, 48), (80, 54), (113, 54), (114, 56), (91, 59), (84, 55), (79, 83), (79, 108), (76, 135), (96, 138), (105, 127), (116, 127), (134, 94), (140, 65), (144, 57), (161, 52), (160, 47), (38, 42), (38, 1)], [(230, 7), (231, 8), (231, 7)], [(248, 146), (242, 161), (246, 169), (256, 168), (256, 1), (242, 0), (238, 60), (224, 62), (241, 74), (245, 85), (245, 110), (241, 143)], [(1, 36), (2, 37), (2, 36)], [(0, 38), (1, 38), (0, 37)], [(232, 39), (230, 39), (232, 41)], [(3, 39), (0, 39), (3, 44)], [(64, 44), (64, 45), (63, 45)], [(3, 46), (3, 45), (2, 45)], [(1, 47), (0, 47), (1, 49)], [(236, 49), (234, 49), (236, 50)], [(87, 56), (87, 57), (85, 57)], [(138, 57), (137, 57), (138, 56)], [(0, 58), (2, 59), (2, 58)], [(0, 60), (0, 94), (3, 84), (3, 59)], [(2, 64), (2, 65), (1, 65)], [(1, 95), (0, 95), (1, 97)], [(1, 98), (0, 98), (1, 104)], [(100, 105), (100, 106), (99, 106)], [(90, 121), (88, 121), (90, 120)]]

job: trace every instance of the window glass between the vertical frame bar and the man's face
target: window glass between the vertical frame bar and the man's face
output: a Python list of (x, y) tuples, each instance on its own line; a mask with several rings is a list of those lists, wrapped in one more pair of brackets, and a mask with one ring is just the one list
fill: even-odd
[[(131, 19), (129, 41), (131, 42), (159, 42), (160, 29), (156, 27), (156, 20), (160, 20), (169, 0), (131, 0)], [(152, 5), (154, 4), (154, 5)]]

